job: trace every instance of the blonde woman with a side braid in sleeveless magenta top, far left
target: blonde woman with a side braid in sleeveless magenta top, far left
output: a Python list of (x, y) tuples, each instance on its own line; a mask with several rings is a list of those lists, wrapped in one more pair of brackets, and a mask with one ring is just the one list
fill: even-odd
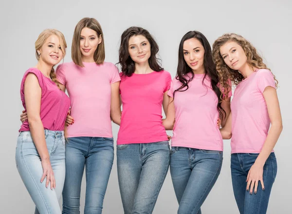
[(35, 47), (37, 66), (24, 73), (20, 86), (28, 120), (19, 130), (16, 165), (36, 204), (35, 214), (61, 214), (58, 200), (65, 179), (64, 127), (70, 99), (60, 90), (54, 65), (64, 58), (67, 44), (61, 32), (47, 29)]

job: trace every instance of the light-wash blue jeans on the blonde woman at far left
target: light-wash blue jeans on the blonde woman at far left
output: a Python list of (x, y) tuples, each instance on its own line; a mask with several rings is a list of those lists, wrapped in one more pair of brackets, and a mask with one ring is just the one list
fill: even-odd
[(20, 132), (16, 147), (16, 166), (18, 173), (32, 197), (35, 214), (61, 214), (59, 198), (65, 179), (65, 138), (64, 132), (44, 130), (51, 165), (55, 175), (56, 189), (46, 188), (40, 156), (29, 131)]

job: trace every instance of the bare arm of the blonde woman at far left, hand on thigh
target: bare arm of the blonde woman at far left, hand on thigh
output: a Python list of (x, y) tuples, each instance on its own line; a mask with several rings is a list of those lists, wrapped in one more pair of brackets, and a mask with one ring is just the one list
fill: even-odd
[(53, 189), (55, 188), (55, 177), (47, 149), (44, 127), (40, 119), (41, 88), (37, 76), (34, 74), (28, 74), (24, 82), (24, 98), (30, 132), (43, 168), (41, 182), (47, 176), (46, 187), (48, 187), (50, 181), (51, 189)]

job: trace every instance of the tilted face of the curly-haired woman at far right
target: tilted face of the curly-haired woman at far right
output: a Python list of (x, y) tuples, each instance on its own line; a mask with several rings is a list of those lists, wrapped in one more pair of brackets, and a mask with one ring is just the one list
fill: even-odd
[(242, 47), (235, 41), (229, 41), (220, 47), (220, 55), (226, 65), (233, 70), (240, 70), (247, 64), (247, 57)]

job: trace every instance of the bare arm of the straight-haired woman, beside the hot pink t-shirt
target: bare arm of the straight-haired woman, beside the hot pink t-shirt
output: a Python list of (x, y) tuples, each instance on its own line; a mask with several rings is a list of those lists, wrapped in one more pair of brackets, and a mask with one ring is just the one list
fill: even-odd
[(110, 85), (111, 97), (110, 97), (110, 117), (112, 121), (120, 125), (121, 124), (121, 101), (120, 101), (120, 82), (115, 82)]

